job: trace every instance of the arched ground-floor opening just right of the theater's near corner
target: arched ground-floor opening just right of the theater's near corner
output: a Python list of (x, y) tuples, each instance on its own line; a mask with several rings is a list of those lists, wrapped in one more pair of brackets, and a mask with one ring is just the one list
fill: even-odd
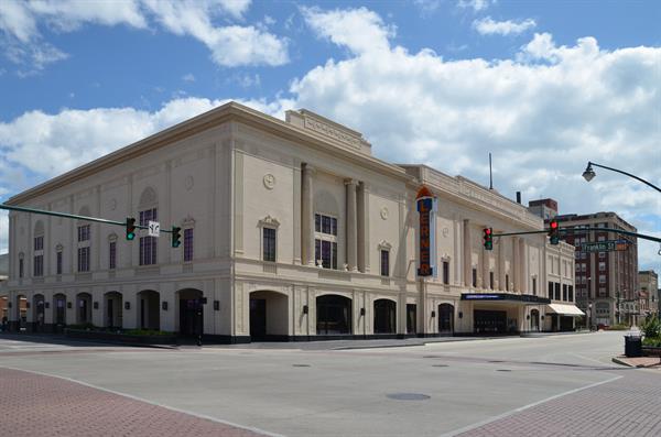
[(250, 293), (250, 340), (286, 340), (288, 296), (271, 291)]

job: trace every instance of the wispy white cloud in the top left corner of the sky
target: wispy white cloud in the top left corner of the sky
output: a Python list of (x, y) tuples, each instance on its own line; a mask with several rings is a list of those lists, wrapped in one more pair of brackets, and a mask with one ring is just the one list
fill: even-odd
[(8, 1), (0, 8), (0, 45), (10, 61), (39, 72), (66, 57), (43, 41), (40, 25), (74, 32), (84, 24), (148, 29), (155, 22), (167, 32), (204, 43), (220, 66), (285, 64), (286, 40), (251, 25), (214, 24), (218, 18), (242, 21), (249, 7), (249, 0)]

